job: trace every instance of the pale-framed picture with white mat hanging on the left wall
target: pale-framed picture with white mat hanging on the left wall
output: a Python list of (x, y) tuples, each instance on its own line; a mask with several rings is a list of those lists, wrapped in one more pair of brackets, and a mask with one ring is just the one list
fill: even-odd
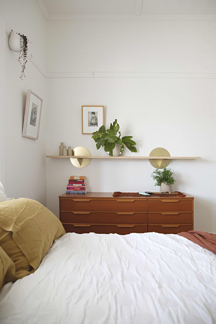
[(36, 93), (32, 90), (27, 91), (22, 136), (38, 140), (42, 103), (43, 99)]

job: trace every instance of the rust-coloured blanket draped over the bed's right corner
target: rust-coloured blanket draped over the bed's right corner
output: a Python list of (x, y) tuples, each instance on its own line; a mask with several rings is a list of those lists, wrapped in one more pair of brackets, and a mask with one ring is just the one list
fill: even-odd
[(202, 248), (210, 250), (216, 254), (216, 234), (200, 231), (181, 232), (177, 235), (186, 237), (188, 240), (197, 243)]

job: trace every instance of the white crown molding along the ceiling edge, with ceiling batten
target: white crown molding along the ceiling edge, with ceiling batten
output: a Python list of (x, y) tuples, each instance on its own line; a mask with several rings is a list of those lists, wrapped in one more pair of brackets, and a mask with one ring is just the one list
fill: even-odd
[(46, 20), (216, 20), (216, 15), (140, 15), (142, 0), (135, 15), (49, 15), (43, 0), (36, 0)]

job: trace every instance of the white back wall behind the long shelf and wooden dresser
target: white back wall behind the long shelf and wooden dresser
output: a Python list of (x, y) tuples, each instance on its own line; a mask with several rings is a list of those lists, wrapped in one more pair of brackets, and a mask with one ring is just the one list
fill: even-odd
[[(106, 155), (81, 134), (81, 106), (105, 105), (105, 124), (117, 118), (139, 155), (162, 146), (172, 156), (202, 157), (170, 163), (173, 189), (195, 197), (195, 229), (216, 232), (215, 27), (215, 21), (49, 21), (47, 155), (58, 155), (61, 141)], [(59, 214), (70, 175), (86, 175), (89, 191), (158, 190), (152, 172), (148, 160), (92, 159), (77, 169), (70, 160), (47, 159), (47, 206)]]

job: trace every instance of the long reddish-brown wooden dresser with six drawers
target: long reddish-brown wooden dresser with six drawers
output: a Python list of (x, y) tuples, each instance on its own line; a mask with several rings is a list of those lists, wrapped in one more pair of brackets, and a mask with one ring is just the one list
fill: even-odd
[(193, 197), (113, 197), (111, 192), (59, 196), (66, 232), (177, 234), (193, 229)]

